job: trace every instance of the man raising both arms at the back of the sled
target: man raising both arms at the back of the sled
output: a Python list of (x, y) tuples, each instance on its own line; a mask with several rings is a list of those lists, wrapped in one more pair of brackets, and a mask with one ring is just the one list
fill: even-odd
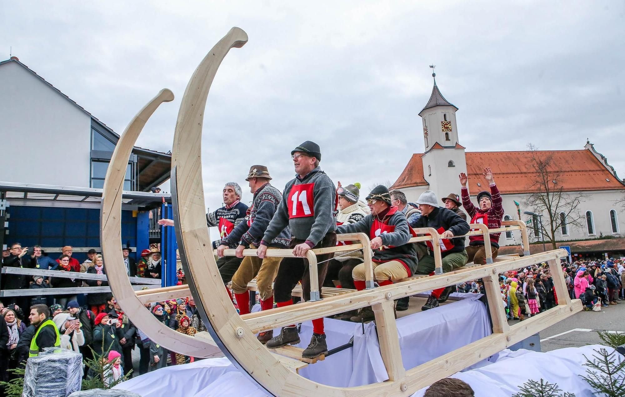
[[(483, 175), (491, 191), (489, 193), (484, 190), (477, 193), (477, 204), (479, 207), (474, 206), (473, 203), (471, 203), (471, 198), (469, 198), (467, 174), (461, 173), (459, 175), (460, 184), (462, 185), (462, 206), (464, 206), (464, 209), (466, 209), (469, 216), (471, 216), (470, 223), (483, 223), (488, 226), (489, 229), (501, 228), (501, 219), (504, 216), (501, 194), (499, 194), (495, 179), (492, 178), (491, 169), (488, 167), (484, 168)], [(492, 233), (490, 235), (492, 259), (497, 258), (500, 234), (501, 233)], [(486, 264), (486, 248), (484, 248), (484, 236), (482, 236), (482, 234), (469, 236), (469, 246), (466, 249), (469, 255), (469, 262), (473, 261), (475, 264)]]

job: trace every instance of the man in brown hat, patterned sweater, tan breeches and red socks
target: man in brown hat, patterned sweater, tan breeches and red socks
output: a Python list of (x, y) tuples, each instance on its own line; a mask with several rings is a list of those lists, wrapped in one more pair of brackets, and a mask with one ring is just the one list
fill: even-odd
[[(230, 234), (221, 239), (221, 245), (217, 247), (217, 256), (222, 258), (224, 249), (237, 244), (236, 257), (243, 258), (241, 266), (232, 276), (232, 291), (239, 306), (239, 314), (249, 313), (247, 283), (253, 278), (256, 278), (258, 293), (261, 297), (261, 309), (273, 308), (272, 283), (282, 259), (277, 256), (267, 256), (264, 259), (256, 256), (243, 256), (243, 249), (246, 246), (252, 249), (258, 248), (269, 226), (269, 221), (282, 200), (282, 193), (269, 184), (271, 175), (266, 166), (251, 166), (245, 180), (249, 182), (250, 191), (254, 194), (252, 206), (247, 210), (247, 221), (237, 224)], [(288, 248), (289, 243), (291, 243), (291, 231), (285, 228), (272, 239), (269, 248)], [(258, 340), (261, 343), (267, 343), (271, 338), (273, 338), (273, 330), (258, 334)]]

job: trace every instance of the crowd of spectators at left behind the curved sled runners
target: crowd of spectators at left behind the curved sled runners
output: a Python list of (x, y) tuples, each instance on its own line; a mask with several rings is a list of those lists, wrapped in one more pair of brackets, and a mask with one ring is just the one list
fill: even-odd
[[(111, 362), (111, 379), (132, 377), (132, 352), (138, 349), (141, 356), (139, 373), (161, 368), (170, 362), (180, 364), (191, 360), (169, 354), (150, 341), (121, 310), (109, 293), (81, 293), (84, 287), (108, 286), (106, 280), (83, 279), (79, 273), (106, 274), (104, 258), (96, 249), (89, 249), (87, 259), (80, 263), (73, 257), (73, 248), (64, 246), (58, 258), (53, 259), (41, 246), (32, 248), (13, 243), (2, 252), (2, 266), (26, 269), (59, 271), (59, 276), (49, 272), (26, 276), (2, 274), (2, 290), (69, 288), (64, 294), (32, 291), (28, 296), (6, 296), (0, 301), (0, 380), (8, 380), (14, 369), (37, 349), (57, 346), (51, 332), (56, 329), (61, 348), (71, 349), (92, 358), (93, 352)], [(158, 249), (144, 249), (139, 260), (131, 256), (132, 249), (123, 248), (126, 273), (131, 277), (161, 278), (161, 253)], [(61, 275), (60, 272), (65, 274)], [(74, 274), (76, 273), (76, 276)], [(66, 293), (67, 292), (67, 293)], [(81, 302), (81, 303), (79, 303)], [(181, 333), (194, 334), (195, 329), (206, 329), (196, 313), (194, 301), (178, 299), (148, 304), (154, 316)], [(32, 311), (36, 314), (31, 315)], [(46, 322), (49, 320), (49, 322)], [(194, 328), (192, 323), (196, 324)], [(41, 332), (37, 330), (41, 328)], [(49, 338), (46, 338), (49, 336)], [(33, 339), (36, 339), (33, 342)], [(32, 343), (35, 343), (34, 345)], [(171, 356), (171, 359), (169, 358)], [(117, 364), (116, 364), (117, 363)], [(88, 376), (88, 368), (84, 376)]]

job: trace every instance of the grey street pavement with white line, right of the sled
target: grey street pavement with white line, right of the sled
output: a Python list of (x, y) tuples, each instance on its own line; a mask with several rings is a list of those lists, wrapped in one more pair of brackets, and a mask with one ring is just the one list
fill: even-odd
[[(519, 321), (508, 321), (516, 324)], [(602, 308), (602, 311), (581, 311), (540, 333), (541, 351), (577, 348), (602, 343), (597, 331), (625, 332), (625, 300)]]

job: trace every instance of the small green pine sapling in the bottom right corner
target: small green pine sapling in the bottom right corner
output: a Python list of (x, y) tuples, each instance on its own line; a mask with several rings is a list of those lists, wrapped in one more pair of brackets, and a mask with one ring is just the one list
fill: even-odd
[[(598, 355), (586, 358), (586, 376), (580, 375), (586, 382), (595, 389), (597, 393), (603, 393), (607, 397), (625, 396), (625, 361), (621, 359), (621, 354), (601, 348), (595, 350)], [(601, 394), (600, 394), (601, 395)]]

